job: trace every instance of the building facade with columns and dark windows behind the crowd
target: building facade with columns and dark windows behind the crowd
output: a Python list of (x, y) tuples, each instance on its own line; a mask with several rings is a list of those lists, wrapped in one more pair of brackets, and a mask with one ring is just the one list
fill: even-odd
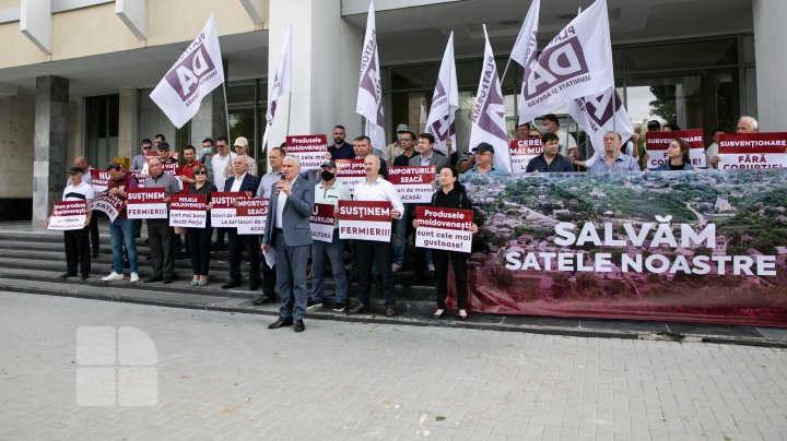
[[(542, 2), (539, 47), (591, 2)], [(482, 24), (505, 72), (513, 133), (521, 70), (507, 65), (507, 56), (529, 2), (377, 0), (375, 7), (388, 138), (402, 122), (415, 132), (423, 128), (453, 31), (458, 144), (467, 148)], [(780, 84), (787, 2), (608, 0), (608, 7), (615, 82), (635, 124), (658, 119), (709, 134), (752, 115), (762, 131), (787, 131), (777, 109), (787, 102)], [(204, 138), (243, 135), (265, 167), (259, 143), (267, 79), (287, 27), (293, 87), (279, 105), (270, 143), (287, 132), (330, 133), (338, 123), (349, 136), (360, 134), (354, 109), (367, 9), (368, 0), (0, 0), (0, 219), (43, 219), (73, 157), (103, 167), (138, 154), (140, 141), (156, 133), (178, 150)], [(176, 130), (149, 94), (211, 13), (227, 82)]]

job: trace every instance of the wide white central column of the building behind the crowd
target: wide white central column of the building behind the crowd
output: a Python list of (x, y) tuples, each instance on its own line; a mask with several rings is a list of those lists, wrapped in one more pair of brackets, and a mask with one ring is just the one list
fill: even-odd
[(327, 134), (329, 144), (336, 124), (350, 140), (361, 134), (355, 99), (364, 29), (342, 19), (340, 0), (270, 0), (269, 19), (269, 95), (290, 24), (293, 53), (292, 97), (280, 99), (268, 145), (284, 141), (287, 115), (290, 134)]

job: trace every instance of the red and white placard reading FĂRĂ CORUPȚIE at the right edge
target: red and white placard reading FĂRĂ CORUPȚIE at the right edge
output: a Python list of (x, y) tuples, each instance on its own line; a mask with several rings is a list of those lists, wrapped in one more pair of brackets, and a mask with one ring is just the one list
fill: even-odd
[(787, 133), (723, 134), (719, 136), (718, 168), (787, 168)]

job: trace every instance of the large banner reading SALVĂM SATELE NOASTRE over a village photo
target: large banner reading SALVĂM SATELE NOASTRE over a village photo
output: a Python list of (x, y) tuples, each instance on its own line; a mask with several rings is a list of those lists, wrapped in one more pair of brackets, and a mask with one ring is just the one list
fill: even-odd
[(787, 326), (787, 171), (463, 178), (472, 310)]

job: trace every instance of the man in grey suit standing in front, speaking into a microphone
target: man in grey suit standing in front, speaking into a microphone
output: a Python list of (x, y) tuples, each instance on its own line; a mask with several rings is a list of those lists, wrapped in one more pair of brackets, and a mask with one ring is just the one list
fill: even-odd
[[(273, 248), (275, 252), (277, 286), (281, 295), (279, 320), (268, 325), (275, 330), (295, 323), (295, 332), (306, 329), (306, 264), (312, 245), (309, 217), (314, 206), (314, 183), (298, 177), (301, 162), (295, 156), (284, 156), (282, 180), (271, 194), (262, 251)], [(293, 308), (294, 305), (294, 308)]]

